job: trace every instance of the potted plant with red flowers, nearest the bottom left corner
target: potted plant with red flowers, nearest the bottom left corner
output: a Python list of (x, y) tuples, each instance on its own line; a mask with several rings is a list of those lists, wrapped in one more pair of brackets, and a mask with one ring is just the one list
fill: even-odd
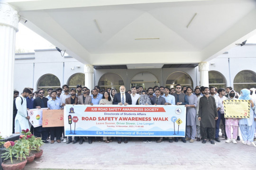
[[(4, 143), (4, 147), (6, 152), (2, 154), (2, 158), (7, 161), (2, 162), (1, 164), (3, 170), (22, 170), (27, 163), (26, 156), (24, 154), (26, 144), (22, 144), (22, 141), (7, 141)], [(13, 156), (17, 157), (17, 160), (13, 159)]]

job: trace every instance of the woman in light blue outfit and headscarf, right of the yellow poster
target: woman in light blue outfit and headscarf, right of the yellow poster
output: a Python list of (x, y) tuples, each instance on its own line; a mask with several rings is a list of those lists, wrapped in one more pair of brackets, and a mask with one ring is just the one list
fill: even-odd
[(250, 91), (248, 89), (242, 89), (239, 97), (240, 100), (249, 100), (250, 101), (250, 118), (242, 118), (239, 120), (239, 127), (241, 130), (241, 135), (244, 139), (243, 144), (251, 145), (253, 142), (255, 125), (254, 125), (254, 109), (255, 105), (250, 97)]

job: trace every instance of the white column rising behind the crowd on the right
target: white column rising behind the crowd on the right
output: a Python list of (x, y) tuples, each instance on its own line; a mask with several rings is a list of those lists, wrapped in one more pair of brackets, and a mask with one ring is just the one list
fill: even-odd
[(209, 63), (201, 62), (198, 64), (199, 72), (200, 72), (200, 85), (209, 87)]

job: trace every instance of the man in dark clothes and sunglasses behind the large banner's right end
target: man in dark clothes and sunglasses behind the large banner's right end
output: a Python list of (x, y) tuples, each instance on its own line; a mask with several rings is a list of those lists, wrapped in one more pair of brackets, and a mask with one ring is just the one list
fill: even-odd
[[(181, 93), (181, 85), (177, 84), (176, 85), (176, 93), (174, 93), (175, 97), (175, 103), (176, 105), (186, 105), (189, 104), (188, 98), (185, 93)], [(184, 113), (186, 114), (186, 113)], [(174, 137), (175, 142), (178, 142), (178, 137)], [(185, 137), (181, 137), (181, 140), (183, 143), (186, 143), (187, 141), (185, 140)]]

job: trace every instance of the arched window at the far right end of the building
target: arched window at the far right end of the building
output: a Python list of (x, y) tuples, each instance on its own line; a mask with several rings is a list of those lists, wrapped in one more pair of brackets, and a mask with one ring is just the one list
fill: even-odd
[(234, 78), (234, 90), (238, 93), (244, 88), (256, 87), (256, 74), (249, 70), (240, 71)]

